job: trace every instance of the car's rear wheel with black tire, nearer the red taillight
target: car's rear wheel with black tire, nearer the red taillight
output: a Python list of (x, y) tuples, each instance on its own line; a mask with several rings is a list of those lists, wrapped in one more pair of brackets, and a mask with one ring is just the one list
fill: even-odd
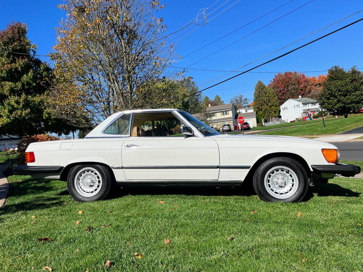
[(80, 202), (105, 199), (110, 193), (112, 183), (111, 170), (102, 165), (74, 166), (67, 178), (70, 195)]

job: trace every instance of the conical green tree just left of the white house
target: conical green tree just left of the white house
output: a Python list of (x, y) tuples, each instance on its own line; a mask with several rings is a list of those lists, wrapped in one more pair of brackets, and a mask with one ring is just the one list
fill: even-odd
[(262, 81), (257, 81), (253, 94), (254, 111), (263, 119), (270, 120), (280, 114), (280, 104), (272, 88), (266, 87)]

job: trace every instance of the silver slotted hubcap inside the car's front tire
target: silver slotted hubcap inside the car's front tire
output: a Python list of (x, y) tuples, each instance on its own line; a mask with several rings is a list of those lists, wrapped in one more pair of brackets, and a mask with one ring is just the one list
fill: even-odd
[(267, 171), (264, 179), (267, 192), (275, 198), (285, 199), (293, 196), (299, 180), (293, 170), (286, 166), (275, 166)]

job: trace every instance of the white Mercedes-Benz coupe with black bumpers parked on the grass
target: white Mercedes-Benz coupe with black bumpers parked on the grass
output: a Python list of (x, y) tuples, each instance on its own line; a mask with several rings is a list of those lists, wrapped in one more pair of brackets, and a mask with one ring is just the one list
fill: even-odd
[[(220, 134), (188, 112), (131, 110), (111, 115), (85, 139), (32, 143), (17, 175), (67, 181), (77, 201), (104, 199), (111, 186), (253, 183), (263, 201), (301, 201), (313, 182), (360, 168), (339, 164), (332, 144), (285, 136)], [(243, 187), (242, 187), (243, 189)]]

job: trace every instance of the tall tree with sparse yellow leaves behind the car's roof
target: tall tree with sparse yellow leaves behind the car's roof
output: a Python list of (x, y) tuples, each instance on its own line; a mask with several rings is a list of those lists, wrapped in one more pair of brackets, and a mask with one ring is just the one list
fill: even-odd
[[(54, 114), (94, 125), (114, 112), (167, 106), (179, 97), (168, 88), (174, 55), (157, 0), (66, 0), (52, 55)], [(170, 71), (172, 74), (172, 71)], [(166, 85), (155, 88), (155, 85)], [(87, 120), (88, 118), (88, 120)]]

